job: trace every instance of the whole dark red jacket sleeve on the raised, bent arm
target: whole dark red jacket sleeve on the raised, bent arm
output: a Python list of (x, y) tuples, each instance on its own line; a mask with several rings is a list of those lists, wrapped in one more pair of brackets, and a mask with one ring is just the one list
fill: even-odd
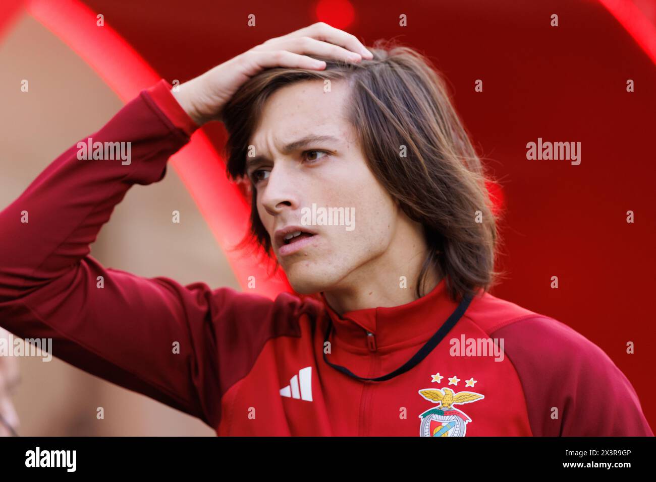
[(131, 143), (130, 162), (81, 160), (76, 143), (0, 212), (0, 326), (51, 338), (53, 356), (216, 426), (207, 399), (207, 387), (218, 384), (213, 320), (236, 323), (253, 299), (259, 310), (272, 302), (143, 278), (89, 255), (128, 189), (161, 180), (197, 127), (168, 88), (161, 81), (142, 91), (90, 136)]

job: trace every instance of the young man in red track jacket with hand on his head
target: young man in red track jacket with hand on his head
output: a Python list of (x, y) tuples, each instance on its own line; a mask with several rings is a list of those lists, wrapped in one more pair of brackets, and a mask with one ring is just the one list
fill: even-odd
[[(249, 180), (253, 236), (316, 299), (180, 286), (89, 256), (127, 190), (162, 179), (213, 120), (228, 171)], [(485, 177), (413, 50), (372, 54), (315, 24), (179, 92), (161, 81), (92, 138), (131, 142), (131, 162), (80, 160), (74, 145), (0, 214), (0, 325), (54, 339), (54, 356), (221, 436), (653, 435), (598, 346), (487, 292)]]

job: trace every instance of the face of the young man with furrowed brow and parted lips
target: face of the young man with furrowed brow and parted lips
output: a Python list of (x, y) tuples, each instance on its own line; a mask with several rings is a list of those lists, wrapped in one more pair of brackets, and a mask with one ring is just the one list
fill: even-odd
[[(298, 293), (364, 286), (396, 229), (399, 210), (369, 170), (344, 117), (348, 97), (343, 81), (333, 81), (331, 92), (323, 91), (323, 81), (285, 86), (267, 100), (251, 138), (257, 160), (251, 164), (254, 158), (247, 158), (247, 174), (255, 177), (258, 214)], [(319, 136), (325, 139), (285, 149)], [(306, 225), (303, 208), (312, 210), (312, 204), (317, 221)], [(321, 208), (344, 208), (354, 220), (321, 225)], [(276, 232), (289, 226), (316, 234), (281, 243)]]

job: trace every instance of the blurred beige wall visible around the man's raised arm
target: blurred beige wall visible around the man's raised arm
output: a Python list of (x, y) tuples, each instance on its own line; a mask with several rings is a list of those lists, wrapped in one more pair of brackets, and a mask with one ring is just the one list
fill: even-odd
[[(22, 79), (28, 79), (29, 92), (20, 91)], [(30, 16), (20, 18), (0, 43), (0, 209), (121, 105), (66, 45)], [(173, 210), (180, 211), (180, 224), (171, 222)], [(91, 254), (106, 267), (140, 276), (239, 289), (172, 167), (163, 181), (129, 191)], [(19, 358), (19, 366), (22, 383), (13, 400), (21, 436), (214, 434), (200, 420), (60, 360)], [(104, 407), (104, 420), (96, 420), (97, 407)]]

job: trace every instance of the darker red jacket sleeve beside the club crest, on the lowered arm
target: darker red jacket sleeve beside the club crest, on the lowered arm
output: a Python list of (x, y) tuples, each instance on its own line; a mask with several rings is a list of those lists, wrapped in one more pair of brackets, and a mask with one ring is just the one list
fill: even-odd
[(490, 336), (504, 339), (534, 436), (653, 436), (624, 373), (577, 331), (537, 316)]

